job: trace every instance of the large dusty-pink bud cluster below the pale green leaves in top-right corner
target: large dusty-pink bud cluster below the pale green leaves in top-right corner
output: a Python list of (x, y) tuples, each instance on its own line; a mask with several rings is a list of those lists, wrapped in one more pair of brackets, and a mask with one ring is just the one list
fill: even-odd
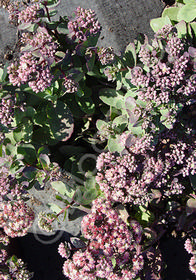
[[(160, 53), (163, 45), (165, 59)], [(153, 102), (155, 106), (168, 104), (170, 100), (186, 103), (196, 92), (193, 53), (186, 51), (187, 42), (177, 36), (168, 25), (155, 34), (152, 46), (147, 42), (141, 46), (140, 61), (147, 70), (135, 66), (131, 70), (131, 83), (138, 88), (138, 98)], [(191, 70), (191, 71), (190, 71)]]

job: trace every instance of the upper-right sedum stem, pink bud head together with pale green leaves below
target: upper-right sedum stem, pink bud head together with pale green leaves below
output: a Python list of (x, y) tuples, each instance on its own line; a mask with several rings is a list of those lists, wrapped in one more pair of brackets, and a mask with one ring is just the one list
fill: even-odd
[(157, 31), (151, 45), (143, 39), (131, 43), (119, 58), (116, 89), (100, 91), (109, 118), (98, 120), (97, 128), (111, 152), (123, 151), (129, 133), (141, 137), (172, 129), (182, 109), (194, 104), (195, 45), (179, 38), (172, 25)]

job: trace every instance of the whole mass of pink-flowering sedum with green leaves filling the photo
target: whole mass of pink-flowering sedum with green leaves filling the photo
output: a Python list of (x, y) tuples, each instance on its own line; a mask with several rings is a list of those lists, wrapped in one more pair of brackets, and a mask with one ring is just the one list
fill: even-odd
[[(65, 277), (162, 279), (168, 232), (186, 237), (195, 273), (195, 2), (165, 9), (152, 42), (141, 34), (120, 57), (97, 46), (94, 11), (53, 20), (56, 5), (7, 7), (19, 41), (0, 70), (0, 238), (27, 234), (28, 189), (52, 188), (62, 204), (39, 213), (41, 229), (84, 216), (59, 244)], [(0, 250), (0, 277), (30, 279)]]

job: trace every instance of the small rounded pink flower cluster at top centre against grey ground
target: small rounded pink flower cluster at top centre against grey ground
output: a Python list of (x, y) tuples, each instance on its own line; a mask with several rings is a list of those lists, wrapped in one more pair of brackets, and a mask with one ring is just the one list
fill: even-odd
[(73, 40), (86, 41), (89, 36), (101, 31), (101, 26), (96, 19), (95, 12), (78, 7), (74, 17), (68, 22), (68, 28)]

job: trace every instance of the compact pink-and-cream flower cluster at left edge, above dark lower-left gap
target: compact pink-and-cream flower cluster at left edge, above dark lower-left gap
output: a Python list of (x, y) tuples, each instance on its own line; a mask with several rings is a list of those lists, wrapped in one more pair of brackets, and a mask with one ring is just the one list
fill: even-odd
[(8, 236), (26, 235), (33, 220), (34, 213), (23, 200), (0, 202), (0, 225)]

